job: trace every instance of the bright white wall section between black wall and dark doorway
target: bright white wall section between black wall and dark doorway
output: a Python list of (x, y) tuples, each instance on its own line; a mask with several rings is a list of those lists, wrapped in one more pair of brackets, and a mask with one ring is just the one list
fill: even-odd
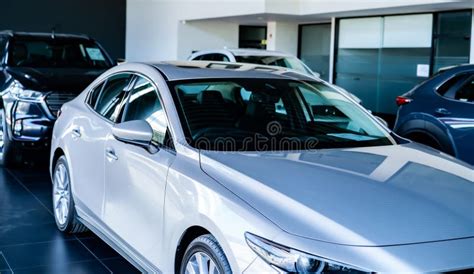
[(189, 20), (264, 11), (265, 0), (127, 0), (126, 59), (174, 60), (193, 49), (237, 47), (237, 24)]

